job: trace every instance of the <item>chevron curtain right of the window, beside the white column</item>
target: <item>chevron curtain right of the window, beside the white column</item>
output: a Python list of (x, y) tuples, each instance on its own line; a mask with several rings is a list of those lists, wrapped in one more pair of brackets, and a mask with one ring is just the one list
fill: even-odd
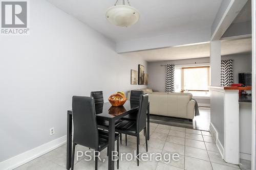
[(230, 86), (233, 83), (233, 61), (221, 61), (221, 86)]

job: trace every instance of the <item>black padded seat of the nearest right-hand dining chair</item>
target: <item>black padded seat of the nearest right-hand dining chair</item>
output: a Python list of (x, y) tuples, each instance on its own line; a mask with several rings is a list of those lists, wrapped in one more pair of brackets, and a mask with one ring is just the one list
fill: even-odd
[(122, 120), (115, 126), (115, 131), (118, 133), (136, 136), (136, 122)]

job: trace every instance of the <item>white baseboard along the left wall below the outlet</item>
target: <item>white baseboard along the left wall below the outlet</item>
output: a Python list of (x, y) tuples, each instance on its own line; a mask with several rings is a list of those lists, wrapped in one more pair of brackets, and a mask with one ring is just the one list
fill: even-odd
[(3, 162), (0, 162), (0, 169), (2, 170), (14, 169), (20, 165), (23, 165), (35, 158), (38, 158), (41, 155), (44, 155), (60, 147), (61, 145), (65, 144), (66, 141), (67, 141), (67, 135), (57, 138), (55, 140), (52, 140), (48, 143), (42, 144), (39, 147), (36, 147), (30, 151), (26, 151), (22, 154), (19, 154)]

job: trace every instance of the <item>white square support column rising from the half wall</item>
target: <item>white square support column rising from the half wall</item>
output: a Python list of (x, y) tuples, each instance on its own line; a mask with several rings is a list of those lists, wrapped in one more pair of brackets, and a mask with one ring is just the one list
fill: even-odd
[(221, 85), (221, 41), (210, 42), (210, 79), (211, 86)]

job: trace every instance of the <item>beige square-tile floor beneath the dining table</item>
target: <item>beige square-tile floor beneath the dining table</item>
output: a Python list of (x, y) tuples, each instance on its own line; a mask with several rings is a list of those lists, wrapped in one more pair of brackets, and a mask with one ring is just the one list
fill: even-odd
[[(124, 139), (124, 136), (123, 136)], [(136, 150), (136, 138), (128, 136), (128, 143), (124, 141), (120, 145), (121, 153), (134, 153)], [(76, 151), (88, 151), (86, 147), (78, 146)], [(145, 138), (143, 132), (140, 134), (140, 153), (145, 151)], [(119, 169), (169, 169), (169, 170), (237, 170), (238, 165), (226, 163), (218, 152), (216, 144), (212, 140), (209, 132), (159, 125), (151, 123), (151, 139), (148, 141), (148, 152), (150, 153), (179, 153), (179, 161), (166, 162), (164, 160), (140, 161), (137, 166), (136, 161), (122, 160)], [(99, 161), (98, 169), (108, 169), (108, 157), (106, 150), (101, 152), (101, 157), (106, 161)], [(248, 162), (243, 161), (244, 169), (250, 169)], [(115, 163), (116, 165), (116, 163)], [(20, 167), (21, 169), (66, 169), (66, 145), (42, 155)], [(84, 157), (75, 161), (74, 169), (94, 169), (94, 161), (85, 161)], [(117, 167), (115, 167), (117, 169)]]

